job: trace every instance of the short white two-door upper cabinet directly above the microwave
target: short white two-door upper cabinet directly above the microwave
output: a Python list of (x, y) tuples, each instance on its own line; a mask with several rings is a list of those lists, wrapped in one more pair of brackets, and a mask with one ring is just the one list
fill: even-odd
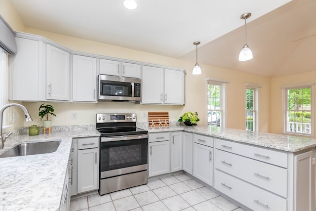
[(99, 73), (110, 76), (122, 76), (140, 79), (140, 65), (100, 59)]

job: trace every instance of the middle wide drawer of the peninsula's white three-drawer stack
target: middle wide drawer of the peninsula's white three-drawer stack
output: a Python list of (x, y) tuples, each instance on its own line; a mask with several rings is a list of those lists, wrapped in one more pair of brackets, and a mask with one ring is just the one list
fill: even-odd
[(215, 168), (287, 197), (287, 169), (215, 150)]

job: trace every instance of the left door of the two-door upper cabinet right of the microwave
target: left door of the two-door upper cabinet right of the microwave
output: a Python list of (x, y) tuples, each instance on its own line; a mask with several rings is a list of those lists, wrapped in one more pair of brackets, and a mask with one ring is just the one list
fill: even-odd
[(163, 102), (163, 69), (143, 66), (142, 103), (161, 104)]

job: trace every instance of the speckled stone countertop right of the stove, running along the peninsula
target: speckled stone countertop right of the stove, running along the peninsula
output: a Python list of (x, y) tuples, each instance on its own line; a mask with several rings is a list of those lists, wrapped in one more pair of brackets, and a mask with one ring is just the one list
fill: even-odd
[(299, 152), (305, 149), (316, 147), (316, 139), (294, 135), (283, 135), (264, 132), (253, 132), (242, 129), (220, 128), (215, 126), (185, 126), (182, 124), (160, 127), (149, 127), (148, 125), (138, 125), (148, 132), (163, 131), (187, 131), (202, 135), (210, 135), (216, 138), (223, 138), (232, 141), (287, 151)]

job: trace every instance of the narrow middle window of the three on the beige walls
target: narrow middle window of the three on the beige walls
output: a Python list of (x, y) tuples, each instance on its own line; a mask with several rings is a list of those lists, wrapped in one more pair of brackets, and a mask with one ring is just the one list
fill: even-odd
[(245, 128), (258, 131), (258, 88), (260, 86), (245, 85)]

